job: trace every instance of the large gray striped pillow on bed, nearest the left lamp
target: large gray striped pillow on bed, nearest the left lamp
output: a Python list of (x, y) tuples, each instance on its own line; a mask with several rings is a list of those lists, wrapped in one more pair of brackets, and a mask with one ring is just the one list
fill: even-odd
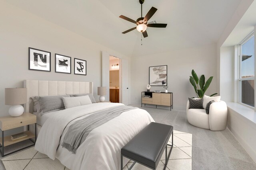
[(62, 96), (34, 96), (32, 97), (34, 101), (34, 106), (36, 108), (36, 113), (41, 116), (45, 113), (49, 113), (50, 111), (56, 111), (65, 109), (63, 104), (62, 97), (71, 97), (70, 95), (62, 95)]

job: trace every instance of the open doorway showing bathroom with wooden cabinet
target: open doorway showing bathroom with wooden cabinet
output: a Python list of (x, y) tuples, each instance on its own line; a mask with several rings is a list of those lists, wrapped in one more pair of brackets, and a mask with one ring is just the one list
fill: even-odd
[(109, 101), (120, 102), (120, 59), (109, 56)]

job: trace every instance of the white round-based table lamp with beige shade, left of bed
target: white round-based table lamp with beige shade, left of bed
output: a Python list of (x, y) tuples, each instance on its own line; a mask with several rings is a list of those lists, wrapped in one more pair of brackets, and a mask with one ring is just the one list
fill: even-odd
[(12, 105), (9, 109), (9, 114), (12, 117), (22, 115), (24, 107), (21, 104), (27, 102), (26, 88), (5, 88), (5, 104)]

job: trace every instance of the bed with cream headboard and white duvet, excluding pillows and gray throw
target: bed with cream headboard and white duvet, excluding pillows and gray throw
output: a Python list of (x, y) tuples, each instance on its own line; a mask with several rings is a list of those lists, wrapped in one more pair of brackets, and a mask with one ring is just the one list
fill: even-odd
[[(33, 112), (32, 96), (56, 96), (64, 94), (93, 93), (92, 82), (65, 82), (24, 80), (28, 90), (25, 111)], [(35, 149), (57, 158), (71, 170), (120, 170), (120, 150), (150, 122), (154, 121), (143, 109), (125, 111), (119, 116), (93, 129), (78, 147), (76, 154), (61, 146), (69, 127), (76, 121), (86, 119), (98, 111), (105, 111), (123, 104), (94, 103), (53, 111), (38, 117), (38, 138)], [(33, 129), (33, 128), (30, 128)], [(124, 165), (129, 160), (123, 159)]]

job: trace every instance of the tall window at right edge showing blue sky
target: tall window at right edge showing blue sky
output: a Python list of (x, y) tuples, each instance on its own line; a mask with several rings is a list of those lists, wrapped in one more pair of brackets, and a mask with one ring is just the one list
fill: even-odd
[(254, 107), (254, 34), (240, 45), (239, 102)]

